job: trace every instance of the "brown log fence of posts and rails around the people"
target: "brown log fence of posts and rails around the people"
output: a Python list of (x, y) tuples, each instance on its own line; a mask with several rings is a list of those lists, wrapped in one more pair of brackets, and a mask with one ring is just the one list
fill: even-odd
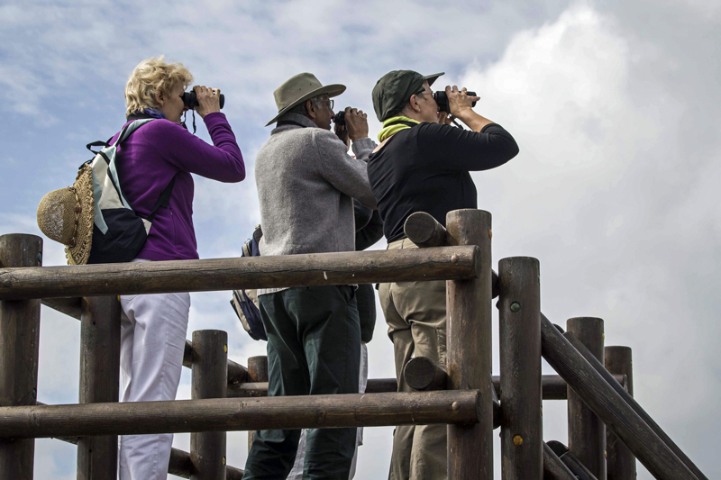
[[(0, 478), (33, 477), (34, 439), (78, 445), (78, 478), (115, 478), (118, 435), (190, 432), (169, 474), (236, 480), (226, 432), (444, 423), (448, 477), (493, 478), (500, 428), (504, 480), (631, 480), (635, 459), (662, 480), (707, 480), (633, 397), (631, 349), (605, 347), (603, 321), (570, 319), (562, 331), (541, 312), (535, 258), (491, 266), (491, 215), (427, 213), (406, 221), (419, 249), (41, 267), (42, 241), (0, 236)], [(371, 378), (365, 394), (268, 397), (265, 357), (228, 358), (227, 333), (195, 331), (183, 365), (191, 400), (118, 403), (117, 295), (233, 288), (445, 280), (447, 362), (413, 358), (403, 375)], [(500, 376), (491, 370), (491, 308), (498, 297)], [(37, 401), (40, 304), (80, 321), (78, 404)], [(541, 358), (557, 375), (541, 374)], [(567, 400), (569, 447), (543, 441), (543, 400)], [(249, 443), (250, 445), (250, 443)]]

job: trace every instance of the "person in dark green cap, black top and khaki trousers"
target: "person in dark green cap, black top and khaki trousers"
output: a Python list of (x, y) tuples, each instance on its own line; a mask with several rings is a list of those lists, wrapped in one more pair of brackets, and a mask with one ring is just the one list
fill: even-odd
[[(373, 88), (373, 107), (383, 129), (368, 160), (388, 249), (416, 249), (403, 224), (426, 212), (445, 226), (446, 213), (478, 208), (471, 171), (496, 168), (516, 157), (516, 140), (495, 122), (475, 113), (477, 96), (446, 86), (448, 113), (439, 112), (431, 86), (443, 75), (394, 70)], [(450, 124), (452, 117), (470, 130)], [(411, 392), (403, 367), (427, 357), (445, 368), (445, 282), (380, 284), (379, 298), (396, 358), (398, 392)], [(398, 426), (393, 436), (391, 480), (444, 480), (446, 426)]]

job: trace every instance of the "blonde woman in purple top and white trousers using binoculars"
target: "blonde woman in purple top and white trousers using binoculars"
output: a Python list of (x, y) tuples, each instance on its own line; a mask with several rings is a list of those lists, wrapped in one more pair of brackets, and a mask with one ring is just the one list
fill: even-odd
[[(219, 90), (194, 87), (199, 104), (196, 112), (203, 118), (213, 145), (180, 124), (180, 116), (187, 110), (182, 95), (192, 82), (186, 67), (159, 57), (141, 61), (125, 86), (127, 121), (156, 120), (133, 131), (118, 148), (121, 190), (132, 209), (146, 218), (160, 194), (173, 182), (168, 206), (155, 214), (148, 240), (132, 261), (198, 258), (190, 174), (227, 183), (245, 178), (241, 150), (225, 115), (220, 113)], [(120, 301), (120, 401), (174, 400), (182, 369), (190, 295), (122, 295)], [(120, 480), (167, 478), (172, 441), (172, 434), (121, 437)]]

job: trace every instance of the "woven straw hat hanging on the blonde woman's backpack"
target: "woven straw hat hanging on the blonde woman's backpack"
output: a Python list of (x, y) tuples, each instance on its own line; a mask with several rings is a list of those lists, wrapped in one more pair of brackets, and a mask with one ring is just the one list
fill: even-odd
[(38, 205), (38, 227), (65, 245), (68, 265), (85, 265), (93, 241), (93, 170), (85, 164), (73, 186), (53, 190)]

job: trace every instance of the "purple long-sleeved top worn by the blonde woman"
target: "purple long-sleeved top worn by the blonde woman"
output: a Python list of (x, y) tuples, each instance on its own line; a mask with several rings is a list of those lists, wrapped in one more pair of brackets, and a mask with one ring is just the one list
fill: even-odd
[[(148, 241), (137, 258), (198, 258), (193, 228), (195, 186), (190, 174), (226, 183), (245, 178), (241, 149), (224, 113), (208, 113), (204, 120), (213, 145), (178, 123), (159, 119), (133, 131), (118, 147), (117, 169), (123, 195), (143, 218), (150, 215), (160, 193), (178, 174), (169, 206), (156, 213)], [(114, 143), (119, 134), (110, 142)]]

